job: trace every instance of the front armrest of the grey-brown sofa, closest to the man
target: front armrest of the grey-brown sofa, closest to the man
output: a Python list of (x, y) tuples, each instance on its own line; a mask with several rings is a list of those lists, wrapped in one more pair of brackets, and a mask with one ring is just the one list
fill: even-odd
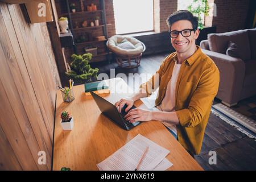
[(244, 61), (218, 52), (202, 51), (214, 61), (220, 71), (220, 86), (216, 97), (228, 104), (240, 101), (245, 78)]

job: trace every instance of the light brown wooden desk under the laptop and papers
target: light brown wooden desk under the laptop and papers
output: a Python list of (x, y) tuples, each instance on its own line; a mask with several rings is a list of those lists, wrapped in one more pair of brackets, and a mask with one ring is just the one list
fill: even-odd
[[(118, 93), (113, 93), (117, 88)], [(96, 164), (108, 158), (138, 134), (170, 150), (167, 159), (174, 164), (168, 170), (203, 170), (195, 159), (181, 146), (158, 121), (143, 122), (130, 131), (123, 130), (101, 114), (92, 96), (85, 96), (84, 85), (74, 86), (75, 100), (63, 102), (57, 91), (53, 170), (69, 167), (71, 170), (98, 170)], [(129, 89), (121, 78), (110, 81), (110, 94), (102, 94), (113, 104), (129, 94), (119, 93)], [(135, 106), (146, 107), (139, 100)], [(74, 118), (72, 131), (63, 131), (61, 111), (67, 110)]]

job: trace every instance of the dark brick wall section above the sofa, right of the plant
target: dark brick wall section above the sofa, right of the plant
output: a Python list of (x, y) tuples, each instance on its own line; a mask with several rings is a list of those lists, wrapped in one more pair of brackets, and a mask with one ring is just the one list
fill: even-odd
[(213, 16), (212, 25), (217, 27), (217, 32), (245, 28), (249, 2), (249, 0), (215, 0), (217, 16)]

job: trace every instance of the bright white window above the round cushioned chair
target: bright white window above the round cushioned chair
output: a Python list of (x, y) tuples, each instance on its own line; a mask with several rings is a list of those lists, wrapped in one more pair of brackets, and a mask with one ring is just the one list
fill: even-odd
[(154, 30), (153, 0), (113, 0), (116, 34)]

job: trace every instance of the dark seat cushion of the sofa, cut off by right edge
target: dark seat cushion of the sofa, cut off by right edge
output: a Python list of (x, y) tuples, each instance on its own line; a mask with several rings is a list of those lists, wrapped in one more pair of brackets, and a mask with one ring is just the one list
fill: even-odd
[(245, 80), (243, 86), (256, 85), (256, 60), (245, 62)]

